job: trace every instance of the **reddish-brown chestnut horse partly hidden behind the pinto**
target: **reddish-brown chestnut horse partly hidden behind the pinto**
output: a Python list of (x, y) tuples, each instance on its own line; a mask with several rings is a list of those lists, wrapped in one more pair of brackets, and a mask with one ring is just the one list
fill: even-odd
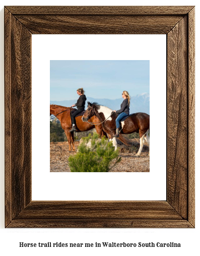
[[(74, 132), (70, 132), (72, 128), (70, 109), (71, 108), (62, 107), (58, 105), (50, 105), (50, 116), (54, 115), (56, 116), (57, 119), (59, 119), (61, 127), (66, 134), (66, 138), (68, 138), (69, 150), (72, 149), (71, 148), (71, 143), (72, 143), (73, 151), (75, 151)], [(90, 122), (100, 123), (99, 119), (94, 115), (93, 117), (91, 117)], [(89, 123), (84, 123), (82, 121), (82, 116), (76, 117), (76, 126), (77, 126), (78, 132), (85, 132), (85, 131), (92, 130), (93, 128), (96, 128), (97, 133), (100, 134), (101, 137), (103, 136), (107, 137), (107, 134), (106, 132), (103, 131), (101, 124), (91, 125)]]

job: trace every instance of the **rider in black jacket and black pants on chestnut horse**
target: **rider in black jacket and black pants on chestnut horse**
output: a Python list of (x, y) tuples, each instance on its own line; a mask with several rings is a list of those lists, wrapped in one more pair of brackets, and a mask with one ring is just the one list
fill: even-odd
[(86, 103), (86, 95), (84, 94), (85, 91), (83, 88), (79, 88), (77, 89), (77, 94), (80, 96), (79, 99), (77, 100), (77, 103), (72, 105), (71, 107), (77, 107), (77, 110), (72, 114), (71, 118), (72, 118), (72, 129), (70, 130), (70, 132), (74, 132), (76, 131), (76, 126), (75, 126), (75, 117), (82, 111), (85, 110), (85, 103)]

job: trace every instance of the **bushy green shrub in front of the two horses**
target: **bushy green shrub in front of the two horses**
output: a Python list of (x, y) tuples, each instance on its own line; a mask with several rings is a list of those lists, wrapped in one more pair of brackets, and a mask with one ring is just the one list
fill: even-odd
[[(90, 139), (89, 147), (87, 143)], [(119, 150), (114, 151), (112, 142), (108, 142), (105, 137), (99, 139), (97, 133), (83, 138), (78, 150), (76, 155), (69, 157), (71, 172), (108, 172), (121, 161), (118, 158)]]

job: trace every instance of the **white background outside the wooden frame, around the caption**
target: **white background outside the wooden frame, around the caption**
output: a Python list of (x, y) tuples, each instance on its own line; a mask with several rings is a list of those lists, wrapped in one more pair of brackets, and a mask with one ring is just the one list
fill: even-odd
[[(149, 1), (2, 1), (1, 5), (1, 50), (0, 50), (0, 106), (1, 106), (1, 171), (0, 171), (0, 251), (2, 255), (199, 255), (199, 158), (196, 147), (196, 223), (195, 229), (5, 229), (4, 228), (4, 12), (5, 5), (150, 5)], [(197, 1), (151, 1), (151, 5), (195, 5), (196, 24), (199, 23), (199, 3)], [(199, 84), (199, 28), (196, 26), (196, 85)], [(196, 86), (196, 116), (199, 108), (199, 86)], [(199, 121), (196, 119), (196, 127)], [(196, 136), (196, 145), (199, 144), (199, 137)], [(179, 242), (180, 248), (19, 248), (19, 242)]]

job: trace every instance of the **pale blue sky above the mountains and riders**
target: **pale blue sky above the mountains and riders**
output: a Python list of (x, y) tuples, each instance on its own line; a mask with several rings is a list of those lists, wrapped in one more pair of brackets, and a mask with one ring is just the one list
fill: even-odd
[(50, 61), (50, 100), (77, 99), (81, 87), (94, 98), (149, 93), (149, 72), (149, 61)]

